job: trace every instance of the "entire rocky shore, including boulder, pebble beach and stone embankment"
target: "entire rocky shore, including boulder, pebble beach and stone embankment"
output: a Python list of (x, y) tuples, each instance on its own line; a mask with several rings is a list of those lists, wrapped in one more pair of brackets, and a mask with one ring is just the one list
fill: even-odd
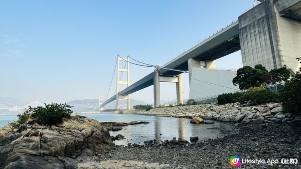
[[(9, 168), (233, 168), (231, 156), (273, 159), (278, 163), (241, 163), (239, 168), (301, 168), (281, 164), (282, 158), (300, 161), (299, 116), (283, 113), (280, 103), (261, 106), (193, 105), (157, 108), (142, 114), (167, 117), (202, 117), (240, 123), (238, 132), (223, 138), (190, 142), (182, 138), (145, 140), (144, 145), (114, 145), (109, 130), (147, 123), (102, 122), (74, 116), (61, 124), (41, 126), (16, 122), (0, 128), (0, 169)], [(195, 118), (197, 119), (197, 118)], [(300, 119), (301, 120), (301, 119)], [(206, 124), (194, 124), (206, 125)]]

